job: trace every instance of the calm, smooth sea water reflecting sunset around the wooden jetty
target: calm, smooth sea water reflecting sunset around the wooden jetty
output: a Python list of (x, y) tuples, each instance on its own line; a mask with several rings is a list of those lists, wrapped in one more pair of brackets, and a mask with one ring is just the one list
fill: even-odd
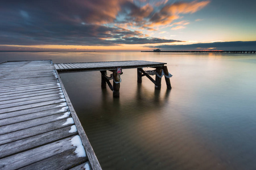
[(256, 55), (9, 52), (7, 60), (167, 62), (172, 90), (123, 70), (120, 98), (100, 71), (61, 74), (103, 169), (256, 169)]

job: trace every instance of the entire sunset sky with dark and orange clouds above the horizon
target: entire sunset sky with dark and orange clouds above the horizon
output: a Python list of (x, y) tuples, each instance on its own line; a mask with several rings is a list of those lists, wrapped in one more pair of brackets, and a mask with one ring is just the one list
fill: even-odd
[(254, 0), (1, 0), (0, 50), (256, 50)]

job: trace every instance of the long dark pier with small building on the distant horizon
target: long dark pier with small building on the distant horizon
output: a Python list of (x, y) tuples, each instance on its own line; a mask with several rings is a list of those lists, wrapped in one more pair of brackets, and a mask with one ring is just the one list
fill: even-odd
[(249, 53), (249, 54), (256, 54), (255, 50), (250, 51), (199, 51), (199, 50), (191, 50), (191, 51), (160, 51), (160, 52), (154, 52), (154, 51), (141, 51), (141, 52), (151, 52), (151, 53)]

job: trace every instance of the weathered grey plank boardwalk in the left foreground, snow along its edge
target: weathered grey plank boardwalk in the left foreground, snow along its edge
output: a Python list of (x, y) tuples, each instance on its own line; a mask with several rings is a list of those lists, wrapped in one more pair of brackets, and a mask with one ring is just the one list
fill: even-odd
[(51, 61), (0, 64), (0, 169), (101, 169)]

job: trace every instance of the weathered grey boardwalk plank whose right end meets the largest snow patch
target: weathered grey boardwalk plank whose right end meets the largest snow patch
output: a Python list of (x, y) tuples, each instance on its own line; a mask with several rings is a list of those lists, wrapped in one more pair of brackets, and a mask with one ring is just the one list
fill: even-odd
[[(41, 160), (51, 158), (52, 156), (62, 154), (69, 150), (74, 152), (76, 150), (76, 146), (72, 146), (71, 139), (71, 137), (65, 138), (26, 152), (8, 156), (1, 159), (0, 167), (1, 169), (18, 169)], [(84, 159), (86, 160), (86, 158)]]

